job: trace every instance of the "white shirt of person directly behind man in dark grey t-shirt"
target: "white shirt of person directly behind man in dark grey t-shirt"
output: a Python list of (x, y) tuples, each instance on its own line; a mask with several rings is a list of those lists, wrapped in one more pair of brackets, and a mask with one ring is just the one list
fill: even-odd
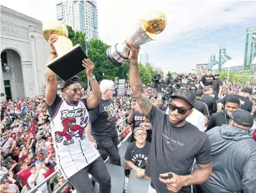
[[(169, 114), (169, 109), (166, 109), (165, 114)], [(193, 109), (192, 114), (186, 118), (186, 121), (196, 126), (200, 131), (205, 132), (205, 116), (197, 109)]]

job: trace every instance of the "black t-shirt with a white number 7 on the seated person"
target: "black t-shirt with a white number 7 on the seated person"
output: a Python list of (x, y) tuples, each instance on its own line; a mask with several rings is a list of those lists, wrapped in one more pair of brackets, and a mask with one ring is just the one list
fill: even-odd
[(150, 143), (146, 142), (143, 148), (138, 148), (136, 142), (130, 143), (126, 149), (125, 159), (134, 163), (137, 167), (145, 169), (148, 162)]

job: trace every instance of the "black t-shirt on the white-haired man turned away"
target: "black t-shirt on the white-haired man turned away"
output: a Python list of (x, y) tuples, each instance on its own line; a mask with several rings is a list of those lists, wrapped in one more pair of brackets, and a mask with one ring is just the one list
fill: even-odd
[(93, 136), (113, 138), (118, 135), (116, 111), (111, 99), (106, 101), (102, 99), (96, 108), (89, 111), (89, 120), (91, 121), (91, 134)]

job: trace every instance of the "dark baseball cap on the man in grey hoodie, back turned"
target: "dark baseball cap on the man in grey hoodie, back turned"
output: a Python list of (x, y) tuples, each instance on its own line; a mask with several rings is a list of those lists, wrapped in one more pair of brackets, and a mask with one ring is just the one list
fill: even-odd
[(253, 116), (248, 111), (243, 109), (237, 109), (232, 113), (232, 120), (237, 123), (237, 125), (252, 127), (253, 125)]

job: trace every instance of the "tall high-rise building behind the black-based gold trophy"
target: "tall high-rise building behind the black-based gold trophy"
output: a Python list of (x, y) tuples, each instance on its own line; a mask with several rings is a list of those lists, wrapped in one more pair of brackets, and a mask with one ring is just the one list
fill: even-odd
[(74, 31), (86, 33), (88, 40), (98, 39), (98, 10), (96, 1), (61, 1), (56, 4), (56, 18)]

